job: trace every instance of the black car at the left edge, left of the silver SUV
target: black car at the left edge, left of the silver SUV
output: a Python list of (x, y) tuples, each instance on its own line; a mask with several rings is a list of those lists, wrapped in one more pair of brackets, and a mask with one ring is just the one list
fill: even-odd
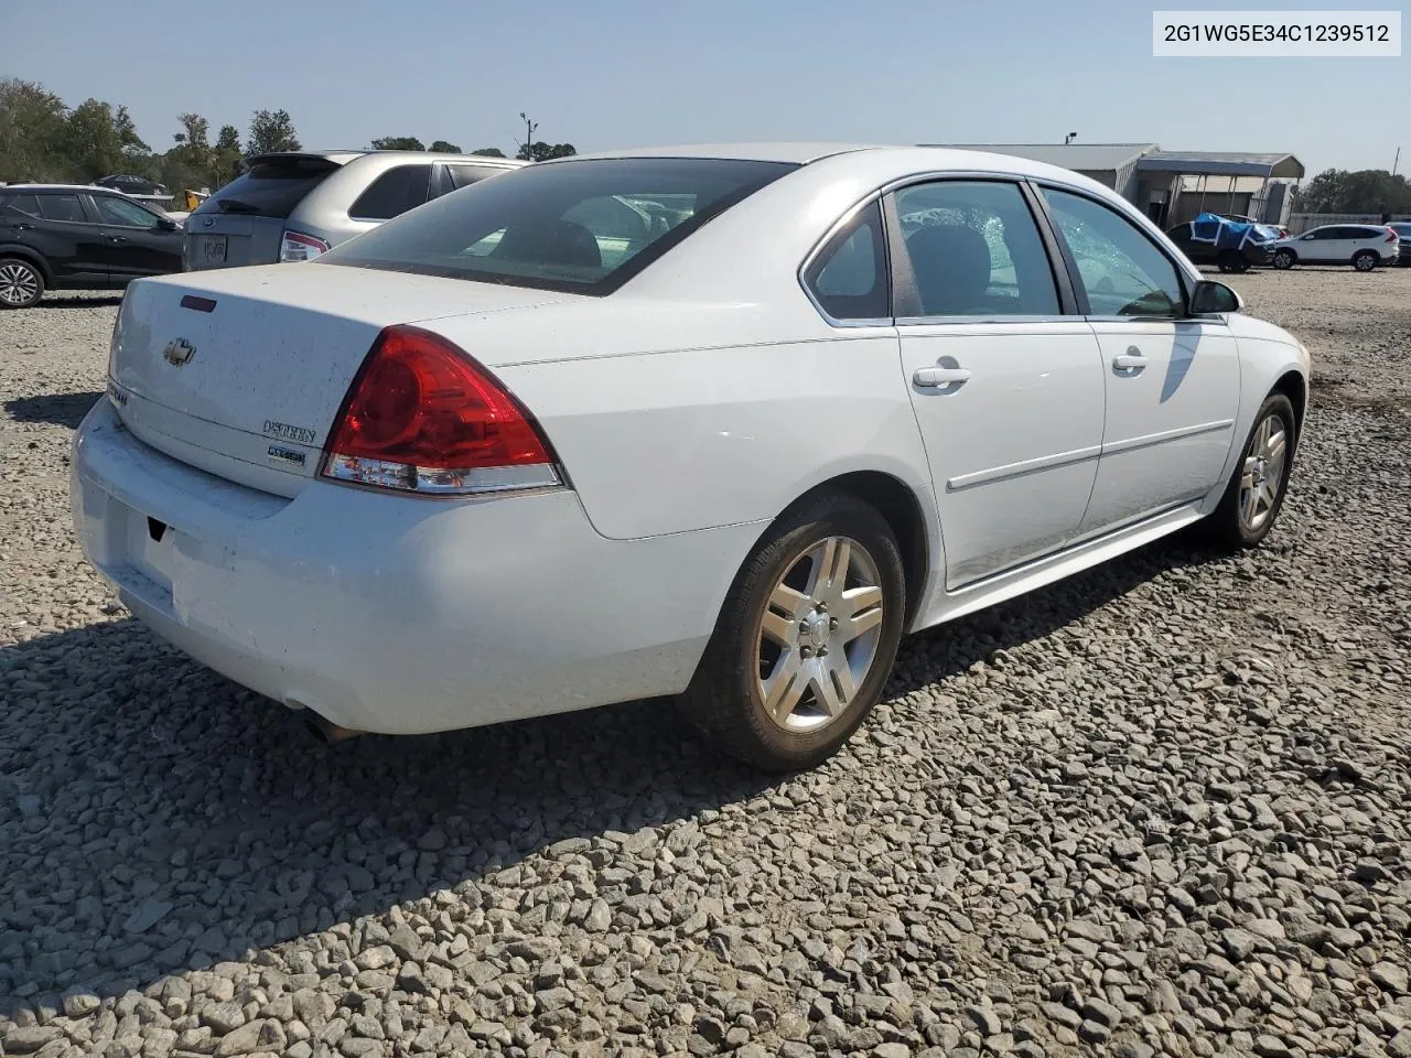
[(182, 226), (116, 190), (21, 183), (0, 188), (0, 309), (45, 289), (121, 289), (181, 271)]

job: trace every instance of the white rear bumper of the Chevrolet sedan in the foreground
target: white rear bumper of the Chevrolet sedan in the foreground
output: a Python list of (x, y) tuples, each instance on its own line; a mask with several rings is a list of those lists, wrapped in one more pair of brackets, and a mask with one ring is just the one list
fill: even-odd
[(72, 501), (85, 554), (158, 635), (388, 734), (679, 693), (759, 532), (607, 540), (566, 490), (439, 502), (315, 481), (285, 499), (168, 458), (106, 401), (75, 439)]

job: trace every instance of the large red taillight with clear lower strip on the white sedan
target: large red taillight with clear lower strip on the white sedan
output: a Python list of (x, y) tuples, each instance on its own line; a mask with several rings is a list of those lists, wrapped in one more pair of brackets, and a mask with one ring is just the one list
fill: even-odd
[(562, 482), (538, 425), (439, 334), (384, 330), (334, 422), (323, 475), (429, 495)]

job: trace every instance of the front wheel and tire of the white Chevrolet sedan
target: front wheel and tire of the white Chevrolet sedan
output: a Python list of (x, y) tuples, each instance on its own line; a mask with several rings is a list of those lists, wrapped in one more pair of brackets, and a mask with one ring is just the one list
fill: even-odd
[(1225, 495), (1206, 522), (1213, 543), (1245, 550), (1268, 536), (1288, 494), (1297, 447), (1294, 405), (1284, 394), (1270, 394), (1254, 416)]

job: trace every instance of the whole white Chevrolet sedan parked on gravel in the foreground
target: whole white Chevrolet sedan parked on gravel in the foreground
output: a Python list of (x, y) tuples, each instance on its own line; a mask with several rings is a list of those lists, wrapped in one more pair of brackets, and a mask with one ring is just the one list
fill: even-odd
[(631, 151), (134, 282), (73, 511), (138, 618), (326, 735), (679, 695), (797, 769), (906, 632), (1201, 519), (1257, 545), (1307, 399), (1072, 172)]

